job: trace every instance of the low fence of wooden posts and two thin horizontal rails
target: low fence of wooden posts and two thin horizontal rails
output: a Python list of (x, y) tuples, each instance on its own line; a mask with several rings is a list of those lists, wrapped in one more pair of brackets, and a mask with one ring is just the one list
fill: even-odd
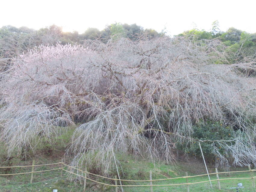
[[(209, 173), (209, 174), (201, 174), (201, 175), (193, 175), (193, 176), (183, 176), (183, 177), (176, 177), (176, 178), (164, 178), (164, 179), (150, 179), (150, 180), (126, 180), (126, 179), (117, 179), (116, 177), (115, 178), (108, 178), (108, 177), (104, 177), (104, 176), (101, 176), (101, 175), (97, 175), (97, 174), (93, 174), (93, 173), (90, 173), (90, 172), (87, 172), (87, 171), (84, 171), (82, 169), (78, 169), (78, 168), (75, 168), (73, 166), (69, 166), (67, 164), (65, 164), (64, 162), (59, 162), (59, 163), (50, 163), (50, 164), (42, 164), (42, 165), (34, 165), (34, 160), (33, 160), (33, 164), (32, 165), (29, 165), (29, 166), (8, 166), (8, 167), (0, 167), (1, 168), (18, 168), (18, 167), (32, 167), (32, 171), (31, 172), (23, 172), (23, 173), (12, 173), (12, 174), (0, 174), (0, 176), (4, 176), (4, 175), (21, 175), (21, 174), (31, 174), (31, 179), (30, 179), (30, 183), (32, 183), (32, 179), (33, 179), (33, 173), (39, 173), (39, 172), (46, 172), (46, 171), (55, 171), (55, 170), (61, 170), (61, 177), (62, 177), (62, 171), (64, 170), (65, 172), (68, 172), (68, 173), (71, 173), (73, 175), (77, 175), (79, 177), (82, 177), (84, 178), (84, 191), (85, 191), (85, 185), (86, 185), (86, 180), (88, 179), (89, 181), (93, 181), (95, 183), (99, 183), (99, 184), (103, 184), (103, 185), (107, 185), (107, 186), (111, 186), (111, 187), (116, 187), (116, 190), (117, 190), (117, 187), (152, 187), (152, 186), (173, 186), (173, 185), (187, 185), (187, 190), (189, 191), (189, 185), (191, 184), (198, 184), (198, 183), (205, 183), (205, 182), (210, 182), (210, 180), (206, 180), (206, 181), (199, 181), (199, 182), (188, 182), (188, 180), (186, 180), (187, 182), (186, 183), (179, 183), (179, 184), (152, 184), (150, 183), (149, 185), (148, 184), (145, 184), (145, 185), (117, 185), (117, 182), (116, 181), (132, 181), (132, 182), (152, 182), (152, 181), (164, 181), (164, 180), (171, 180), (171, 179), (179, 179), (179, 178), (193, 178), (193, 177), (198, 177), (198, 176), (205, 176), (205, 175), (217, 175), (217, 179), (214, 179), (214, 180), (211, 180), (211, 181), (218, 181), (218, 185), (219, 185), (219, 190), (220, 190), (220, 183), (219, 181), (221, 180), (236, 180), (236, 179), (252, 179), (252, 187), (255, 188), (255, 183), (254, 183), (254, 179), (256, 178), (256, 176), (253, 176), (253, 172), (256, 171), (256, 169), (251, 169), (250, 166), (248, 166), (249, 170), (248, 171), (230, 171), (230, 172), (217, 172), (217, 168), (216, 169), (216, 172), (215, 173)], [(49, 166), (49, 165), (57, 165), (57, 164), (60, 164), (60, 165), (63, 165), (63, 167), (61, 168), (57, 168), (57, 169), (48, 169), (48, 170), (42, 170), (42, 171), (33, 171), (34, 170), (34, 167), (36, 166)], [(107, 184), (107, 183), (102, 183), (102, 182), (99, 182), (99, 181), (95, 181), (93, 179), (90, 179), (88, 178), (87, 176), (83, 176), (83, 175), (79, 175), (77, 173), (74, 173), (72, 171), (68, 171), (66, 169), (64, 169), (65, 167), (69, 168), (69, 169), (76, 169), (78, 171), (81, 171), (82, 174), (83, 173), (86, 173), (87, 174), (90, 174), (90, 175), (94, 175), (94, 176), (97, 176), (97, 177), (101, 177), (101, 178), (105, 178), (105, 179), (110, 179), (110, 180), (114, 180), (115, 181), (115, 184)], [(223, 173), (239, 173), (239, 172), (250, 172), (251, 174), (251, 177), (248, 177), (248, 178), (222, 178), (220, 179), (218, 174), (223, 174)], [(187, 172), (186, 172), (186, 175), (187, 175)], [(152, 188), (151, 188), (152, 189)]]

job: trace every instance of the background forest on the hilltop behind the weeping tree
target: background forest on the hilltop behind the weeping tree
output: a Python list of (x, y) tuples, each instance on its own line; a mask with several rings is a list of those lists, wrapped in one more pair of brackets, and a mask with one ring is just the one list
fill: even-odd
[[(1, 40), (1, 58), (13, 57), (15, 54), (20, 54), (34, 46), (39, 45), (55, 45), (56, 43), (65, 44), (80, 44), (84, 40), (98, 39), (104, 43), (108, 42), (111, 36), (122, 36), (136, 41), (142, 34), (147, 34), (150, 37), (166, 36), (165, 29), (158, 33), (154, 29), (144, 29), (142, 26), (134, 24), (114, 23), (107, 25), (102, 31), (97, 28), (88, 28), (84, 33), (79, 34), (77, 31), (63, 32), (62, 28), (56, 25), (45, 27), (39, 30), (29, 29), (27, 27), (3, 26), (0, 29)], [(256, 33), (247, 33), (245, 31), (230, 27), (226, 32), (219, 29), (219, 22), (212, 23), (212, 29), (206, 31), (194, 28), (184, 31), (175, 36), (195, 36), (199, 39), (219, 39), (224, 45), (229, 47), (229, 50), (236, 55), (235, 60), (239, 59), (241, 54), (239, 51), (248, 52), (248, 55), (253, 55), (256, 45)], [(246, 51), (244, 51), (246, 50)], [(237, 51), (237, 52), (236, 52)], [(242, 59), (242, 58), (240, 58)], [(234, 60), (229, 60), (229, 63)]]

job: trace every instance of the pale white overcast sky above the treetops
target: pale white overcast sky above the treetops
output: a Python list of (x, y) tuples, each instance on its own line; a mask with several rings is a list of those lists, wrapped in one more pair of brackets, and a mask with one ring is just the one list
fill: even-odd
[(114, 22), (136, 23), (170, 35), (192, 29), (208, 30), (218, 20), (220, 29), (229, 27), (256, 32), (255, 0), (9, 0), (1, 1), (0, 27), (13, 25), (39, 29), (56, 24), (63, 31), (83, 33), (88, 27), (100, 30)]

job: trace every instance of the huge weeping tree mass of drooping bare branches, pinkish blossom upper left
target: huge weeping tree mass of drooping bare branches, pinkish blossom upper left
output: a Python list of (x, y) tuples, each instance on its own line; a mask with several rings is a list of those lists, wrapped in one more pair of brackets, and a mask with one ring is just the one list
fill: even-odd
[[(1, 73), (0, 139), (11, 152), (32, 143), (33, 135), (51, 138), (80, 123), (67, 154), (74, 165), (87, 159), (106, 174), (112, 149), (167, 162), (175, 160), (180, 141), (230, 149), (229, 141), (192, 138), (201, 119), (241, 130), (234, 142), (253, 147), (256, 79), (241, 71), (255, 60), (216, 64), (226, 59), (225, 49), (218, 40), (182, 37), (41, 45)], [(232, 149), (233, 156), (240, 153)], [(235, 163), (256, 159), (253, 153), (238, 157)]]

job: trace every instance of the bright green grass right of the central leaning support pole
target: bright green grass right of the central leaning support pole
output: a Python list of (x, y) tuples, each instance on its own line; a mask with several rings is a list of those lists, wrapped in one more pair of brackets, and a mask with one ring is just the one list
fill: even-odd
[[(126, 169), (133, 169), (136, 170), (135, 172), (138, 172), (139, 167), (143, 167), (143, 179), (149, 179), (149, 170), (153, 170), (153, 175), (152, 179), (162, 179), (162, 178), (175, 178), (175, 177), (180, 177), (180, 176), (185, 176), (185, 172), (188, 172), (188, 175), (200, 175), (200, 174), (206, 174), (206, 171), (203, 164), (201, 163), (193, 163), (192, 165), (189, 163), (178, 163), (175, 166), (166, 166), (164, 164), (158, 164), (153, 166), (151, 163), (145, 163), (145, 162), (140, 162), (140, 163), (130, 163), (130, 167), (127, 166)], [(142, 165), (143, 164), (143, 165)], [(197, 166), (195, 166), (197, 164)], [(136, 166), (135, 166), (136, 165)], [(192, 167), (193, 166), (193, 167)], [(125, 170), (126, 170), (125, 169)], [(176, 170), (176, 171), (173, 171)], [(178, 171), (179, 170), (179, 171)], [(197, 170), (197, 172), (195, 171)], [(198, 171), (199, 170), (199, 171)], [(247, 167), (244, 168), (234, 168), (232, 167), (230, 171), (242, 171), (242, 170), (248, 170)], [(132, 171), (129, 171), (132, 172)], [(219, 172), (223, 172), (223, 170), (219, 170)], [(255, 175), (255, 173), (254, 173)], [(134, 175), (135, 178), (140, 179), (138, 175)], [(230, 173), (229, 175), (227, 174), (219, 174), (219, 178), (249, 178), (250, 177), (250, 172), (240, 172), (240, 173)], [(217, 179), (216, 175), (211, 175), (210, 176), (211, 180)], [(199, 181), (208, 181), (208, 176), (199, 176), (199, 177), (193, 177), (193, 178), (188, 178), (189, 183), (194, 183), (194, 182), (199, 182)], [(205, 182), (205, 183), (198, 183), (198, 184), (191, 184), (189, 185), (190, 192), (198, 192), (198, 191), (212, 191), (212, 192), (217, 192), (217, 191), (236, 191), (236, 189), (229, 189), (229, 187), (236, 187), (237, 183), (242, 182), (243, 186), (245, 188), (241, 189), (240, 191), (246, 191), (246, 192), (255, 192), (256, 189), (252, 188), (252, 179), (235, 179), (235, 180), (222, 180), (220, 181), (220, 186), (221, 190), (218, 190), (218, 184), (217, 181), (212, 181), (212, 186), (213, 189), (211, 189), (210, 182)], [(256, 179), (255, 179), (256, 182)], [(179, 183), (186, 183), (186, 178), (178, 178), (178, 179), (171, 179), (171, 180), (165, 180), (165, 181), (153, 181), (152, 184), (179, 184)], [(123, 184), (149, 184), (149, 182), (127, 182)], [(130, 192), (144, 192), (144, 191), (149, 191), (149, 187), (123, 187), (125, 191), (130, 191)], [(177, 185), (177, 186), (154, 186), (153, 187), (154, 192), (164, 192), (164, 191), (187, 191), (187, 186), (186, 185)]]

